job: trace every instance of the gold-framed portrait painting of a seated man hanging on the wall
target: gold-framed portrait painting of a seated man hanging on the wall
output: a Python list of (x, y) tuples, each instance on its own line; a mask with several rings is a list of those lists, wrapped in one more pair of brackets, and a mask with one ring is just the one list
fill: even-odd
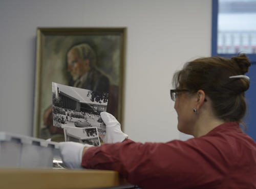
[(52, 82), (109, 93), (122, 124), (126, 28), (38, 28), (33, 135), (63, 141), (53, 126)]

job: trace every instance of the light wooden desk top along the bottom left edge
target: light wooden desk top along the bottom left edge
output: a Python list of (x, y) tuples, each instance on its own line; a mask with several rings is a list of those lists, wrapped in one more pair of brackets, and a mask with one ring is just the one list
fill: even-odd
[[(118, 187), (117, 187), (118, 186)], [(1, 189), (133, 188), (116, 171), (0, 169)]]

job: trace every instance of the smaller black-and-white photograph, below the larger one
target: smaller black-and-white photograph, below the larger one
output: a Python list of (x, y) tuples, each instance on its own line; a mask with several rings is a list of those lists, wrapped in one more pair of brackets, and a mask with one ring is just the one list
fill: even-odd
[(100, 146), (99, 135), (96, 127), (76, 128), (64, 127), (65, 141)]

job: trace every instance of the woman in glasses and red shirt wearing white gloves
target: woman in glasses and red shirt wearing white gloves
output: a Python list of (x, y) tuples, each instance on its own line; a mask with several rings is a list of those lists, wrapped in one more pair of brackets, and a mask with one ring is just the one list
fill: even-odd
[(122, 143), (61, 143), (62, 160), (71, 168), (116, 170), (142, 188), (256, 188), (256, 144), (239, 127), (246, 112), (249, 78), (244, 74), (249, 66), (244, 54), (199, 58), (174, 75), (176, 89), (170, 95), (178, 129), (195, 138), (135, 143), (114, 116), (102, 112), (103, 141)]

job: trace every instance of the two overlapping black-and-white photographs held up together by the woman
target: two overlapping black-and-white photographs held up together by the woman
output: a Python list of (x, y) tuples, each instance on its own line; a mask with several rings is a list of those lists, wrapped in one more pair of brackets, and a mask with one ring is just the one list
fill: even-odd
[(62, 128), (65, 141), (100, 146), (106, 132), (100, 112), (106, 111), (109, 93), (52, 82), (53, 125)]

